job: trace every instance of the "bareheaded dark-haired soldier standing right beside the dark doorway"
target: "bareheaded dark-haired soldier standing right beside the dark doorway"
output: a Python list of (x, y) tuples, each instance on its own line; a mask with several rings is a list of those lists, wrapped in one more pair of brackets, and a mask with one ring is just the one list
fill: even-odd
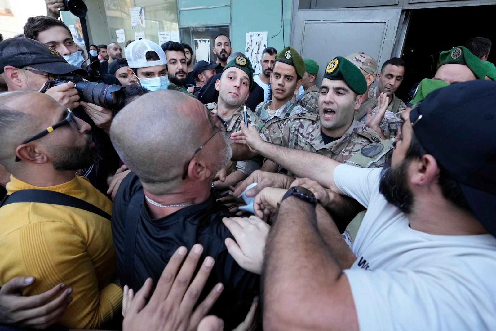
[(369, 90), (369, 98), (377, 99), (380, 93), (389, 97), (387, 110), (392, 113), (402, 113), (406, 109), (405, 103), (394, 92), (400, 87), (405, 75), (405, 61), (392, 58), (384, 62), (377, 73), (377, 86)]

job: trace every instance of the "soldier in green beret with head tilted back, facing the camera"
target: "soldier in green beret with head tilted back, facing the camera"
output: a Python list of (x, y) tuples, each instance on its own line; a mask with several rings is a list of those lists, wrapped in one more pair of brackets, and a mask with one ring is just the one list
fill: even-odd
[[(215, 111), (227, 122), (226, 141), (228, 143), (232, 143), (232, 140), (229, 139), (230, 133), (241, 130), (241, 122), (244, 121), (245, 111), (247, 125), (255, 127), (257, 131), (260, 131), (264, 125), (245, 105), (252, 85), (253, 69), (251, 62), (244, 56), (236, 57), (226, 65), (220, 79), (215, 84), (216, 90), (219, 91), (218, 103), (206, 105), (209, 110)], [(214, 185), (219, 191), (227, 189), (229, 185), (236, 186), (259, 168), (260, 165), (253, 160), (237, 162), (226, 180), (224, 182), (217, 181)]]

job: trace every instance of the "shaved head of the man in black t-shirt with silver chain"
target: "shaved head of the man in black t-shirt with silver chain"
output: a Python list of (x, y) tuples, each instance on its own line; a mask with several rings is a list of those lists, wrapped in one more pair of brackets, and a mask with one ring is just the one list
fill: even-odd
[[(181, 185), (186, 163), (212, 132), (208, 111), (198, 100), (182, 92), (159, 90), (125, 106), (114, 118), (110, 136), (143, 187), (165, 194)], [(219, 141), (208, 148), (217, 147)]]

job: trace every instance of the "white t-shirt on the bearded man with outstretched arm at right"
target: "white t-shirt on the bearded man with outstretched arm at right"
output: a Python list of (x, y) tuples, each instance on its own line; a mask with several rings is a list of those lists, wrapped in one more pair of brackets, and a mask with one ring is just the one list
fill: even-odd
[(368, 208), (344, 270), (361, 331), (496, 330), (496, 238), (413, 230), (379, 193), (381, 169), (340, 165), (337, 187)]

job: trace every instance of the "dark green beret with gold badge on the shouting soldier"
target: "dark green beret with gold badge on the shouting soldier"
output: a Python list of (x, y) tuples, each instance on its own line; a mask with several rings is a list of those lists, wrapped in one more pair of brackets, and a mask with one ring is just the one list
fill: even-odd
[(367, 91), (367, 82), (364, 74), (349, 60), (338, 56), (332, 59), (325, 67), (324, 78), (344, 80), (353, 92), (361, 95)]

